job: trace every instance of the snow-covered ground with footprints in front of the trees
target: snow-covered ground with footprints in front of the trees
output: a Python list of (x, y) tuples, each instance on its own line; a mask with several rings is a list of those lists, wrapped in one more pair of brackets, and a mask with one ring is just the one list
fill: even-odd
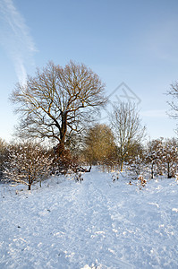
[(40, 188), (0, 185), (0, 268), (178, 268), (178, 185), (142, 190), (92, 168)]

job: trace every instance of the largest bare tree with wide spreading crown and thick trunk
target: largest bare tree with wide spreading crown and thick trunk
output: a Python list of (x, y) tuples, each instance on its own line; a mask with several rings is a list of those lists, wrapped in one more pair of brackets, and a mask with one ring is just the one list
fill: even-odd
[(105, 85), (86, 65), (72, 61), (64, 67), (49, 62), (26, 85), (17, 84), (11, 100), (21, 114), (18, 134), (23, 138), (52, 138), (59, 156), (71, 134), (89, 123), (106, 103)]

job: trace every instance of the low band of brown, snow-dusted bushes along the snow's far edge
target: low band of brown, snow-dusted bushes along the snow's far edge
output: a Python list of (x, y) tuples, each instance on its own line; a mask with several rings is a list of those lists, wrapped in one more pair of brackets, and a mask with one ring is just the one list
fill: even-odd
[[(82, 171), (85, 165), (99, 165), (108, 171), (122, 171), (128, 178), (138, 179), (177, 177), (178, 140), (159, 138), (148, 143), (132, 141), (126, 144), (123, 155), (111, 127), (96, 124), (89, 127), (77, 149), (65, 149), (63, 156), (56, 158), (55, 147), (41, 143), (5, 143), (0, 140), (0, 178), (6, 182), (21, 183), (29, 190), (52, 176)], [(58, 153), (57, 153), (58, 154)], [(124, 166), (123, 166), (124, 165)]]

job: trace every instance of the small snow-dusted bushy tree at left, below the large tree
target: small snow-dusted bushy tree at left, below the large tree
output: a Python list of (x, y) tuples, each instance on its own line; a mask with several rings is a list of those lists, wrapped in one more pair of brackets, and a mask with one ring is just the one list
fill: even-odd
[(37, 143), (9, 145), (9, 154), (4, 163), (4, 176), (13, 183), (24, 184), (31, 189), (32, 184), (49, 176), (52, 158)]

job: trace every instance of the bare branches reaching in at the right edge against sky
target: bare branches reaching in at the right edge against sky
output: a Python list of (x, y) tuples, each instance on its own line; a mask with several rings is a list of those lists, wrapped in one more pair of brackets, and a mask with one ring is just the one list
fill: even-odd
[[(169, 113), (169, 116), (178, 119), (178, 82), (171, 84), (171, 88), (167, 91), (167, 94), (172, 97), (172, 100), (168, 101), (172, 110), (172, 112)], [(178, 134), (178, 127), (176, 133)]]

